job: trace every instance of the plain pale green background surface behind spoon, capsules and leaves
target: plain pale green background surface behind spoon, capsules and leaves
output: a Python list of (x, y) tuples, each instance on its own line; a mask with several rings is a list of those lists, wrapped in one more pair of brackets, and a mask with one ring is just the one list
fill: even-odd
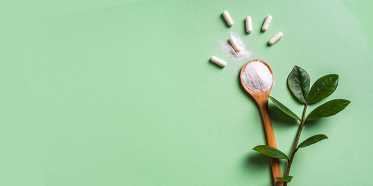
[[(265, 144), (261, 117), (236, 75), (252, 59), (271, 65), (271, 95), (298, 115), (302, 105), (286, 87), (294, 65), (311, 83), (339, 74), (336, 92), (323, 102), (352, 102), (305, 125), (300, 140), (319, 133), (329, 139), (298, 151), (289, 185), (371, 185), (370, 7), (362, 0), (7, 2), (0, 185), (270, 186), (269, 159), (251, 150)], [(273, 20), (263, 33), (268, 14)], [(231, 31), (254, 52), (238, 66), (216, 43)], [(268, 47), (279, 31), (281, 40)], [(278, 148), (288, 154), (297, 123), (272, 103), (270, 112)]]

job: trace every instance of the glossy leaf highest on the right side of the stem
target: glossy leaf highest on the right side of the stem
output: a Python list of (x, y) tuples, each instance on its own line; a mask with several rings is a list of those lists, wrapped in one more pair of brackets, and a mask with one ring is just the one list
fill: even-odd
[(317, 79), (312, 85), (311, 91), (309, 92), (308, 103), (316, 103), (328, 96), (330, 96), (338, 85), (338, 75), (329, 74)]

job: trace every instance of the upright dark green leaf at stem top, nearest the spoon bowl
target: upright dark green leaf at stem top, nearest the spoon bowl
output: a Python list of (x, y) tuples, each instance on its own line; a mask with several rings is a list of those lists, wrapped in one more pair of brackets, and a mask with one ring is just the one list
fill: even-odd
[(291, 93), (302, 103), (308, 101), (310, 78), (308, 73), (299, 66), (294, 66), (287, 77), (287, 85)]

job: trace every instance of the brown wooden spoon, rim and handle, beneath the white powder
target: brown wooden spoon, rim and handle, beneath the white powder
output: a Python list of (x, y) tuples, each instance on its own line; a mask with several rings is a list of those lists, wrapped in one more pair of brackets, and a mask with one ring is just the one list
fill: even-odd
[[(267, 62), (264, 62), (263, 60), (251, 60), (250, 62), (254, 61), (259, 61), (262, 62), (264, 65), (268, 67), (272, 74), (272, 79), (273, 79), (273, 72), (270, 67), (270, 65), (267, 64)], [(244, 73), (246, 65), (249, 64), (250, 62), (247, 62), (244, 64), (244, 66), (241, 69), (241, 75)], [(273, 132), (273, 127), (271, 123), (271, 118), (270, 118), (270, 112), (268, 110), (268, 96), (270, 95), (271, 88), (267, 90), (266, 92), (254, 92), (250, 90), (248, 87), (245, 86), (244, 82), (242, 81), (241, 78), (241, 84), (245, 88), (245, 90), (255, 99), (255, 101), (258, 103), (260, 112), (263, 117), (263, 123), (264, 123), (264, 128), (266, 130), (267, 134), (267, 142), (269, 146), (277, 148), (276, 145), (276, 139), (275, 139), (275, 133)], [(271, 158), (271, 167), (272, 167), (272, 175), (274, 179), (274, 185), (275, 186), (282, 186), (282, 182), (280, 180), (277, 180), (276, 177), (281, 177), (281, 168), (280, 168), (280, 162), (279, 159), (277, 158)]]

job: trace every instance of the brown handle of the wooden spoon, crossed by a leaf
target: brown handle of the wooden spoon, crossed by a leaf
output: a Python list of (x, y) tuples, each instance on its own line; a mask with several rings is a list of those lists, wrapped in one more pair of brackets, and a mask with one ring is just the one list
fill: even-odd
[[(261, 102), (258, 102), (262, 117), (263, 117), (263, 123), (264, 128), (266, 130), (267, 135), (267, 142), (268, 145), (271, 147), (277, 148), (276, 145), (276, 139), (275, 139), (275, 133), (273, 131), (271, 118), (270, 118), (270, 112), (268, 110), (268, 99), (262, 100)], [(271, 158), (271, 167), (272, 167), (272, 175), (274, 179), (274, 185), (275, 186), (282, 186), (282, 182), (280, 180), (277, 180), (276, 177), (281, 177), (281, 168), (280, 168), (280, 161), (277, 158)]]

